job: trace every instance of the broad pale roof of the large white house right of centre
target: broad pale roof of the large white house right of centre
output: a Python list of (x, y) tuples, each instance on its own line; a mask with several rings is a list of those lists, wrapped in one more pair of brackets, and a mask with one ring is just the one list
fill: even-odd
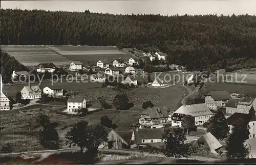
[(196, 116), (214, 115), (210, 109), (202, 104), (182, 105), (174, 113)]

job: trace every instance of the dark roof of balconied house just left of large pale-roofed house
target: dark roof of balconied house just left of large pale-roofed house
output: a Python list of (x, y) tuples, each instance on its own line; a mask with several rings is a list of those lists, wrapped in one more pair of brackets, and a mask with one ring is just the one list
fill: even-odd
[[(160, 110), (160, 112), (158, 112)], [(168, 112), (166, 108), (159, 108), (159, 107), (148, 107), (146, 108), (143, 112), (143, 115), (148, 115), (150, 116), (151, 119), (156, 119), (156, 118), (167, 118), (168, 117)]]

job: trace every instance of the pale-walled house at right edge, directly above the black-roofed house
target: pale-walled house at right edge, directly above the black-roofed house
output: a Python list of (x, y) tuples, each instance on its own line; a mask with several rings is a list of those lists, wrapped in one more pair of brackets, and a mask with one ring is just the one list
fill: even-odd
[(249, 114), (251, 107), (256, 109), (256, 98), (243, 97), (241, 99), (231, 98), (226, 105), (226, 113), (243, 113)]

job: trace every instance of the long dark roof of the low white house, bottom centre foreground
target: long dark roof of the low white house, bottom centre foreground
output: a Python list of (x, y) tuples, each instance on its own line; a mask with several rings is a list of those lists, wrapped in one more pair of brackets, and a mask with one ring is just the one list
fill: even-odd
[(146, 145), (146, 143), (142, 143), (142, 140), (146, 139), (162, 139), (162, 135), (164, 133), (164, 128), (142, 128), (137, 130), (133, 129), (135, 143), (137, 145)]

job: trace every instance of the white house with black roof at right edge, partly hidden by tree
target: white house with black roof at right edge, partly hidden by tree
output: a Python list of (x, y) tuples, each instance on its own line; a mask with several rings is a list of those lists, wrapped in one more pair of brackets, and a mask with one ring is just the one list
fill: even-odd
[[(252, 107), (252, 111), (255, 112), (254, 108)], [(255, 115), (255, 113), (254, 113)], [(227, 125), (229, 127), (229, 133), (232, 133), (232, 128), (235, 124), (239, 122), (239, 120), (244, 121), (246, 125), (249, 125), (249, 139), (255, 137), (255, 132), (256, 132), (256, 118), (253, 114), (242, 114), (242, 113), (234, 113), (231, 115), (229, 118), (227, 118)]]

